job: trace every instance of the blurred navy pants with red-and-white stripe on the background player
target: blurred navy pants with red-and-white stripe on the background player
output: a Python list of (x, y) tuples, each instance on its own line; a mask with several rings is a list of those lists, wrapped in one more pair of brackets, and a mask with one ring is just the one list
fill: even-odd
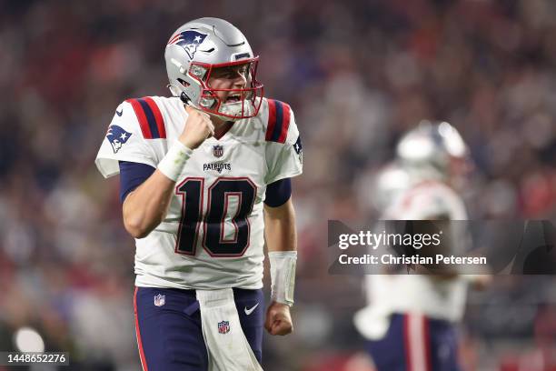
[(426, 316), (391, 317), (386, 336), (368, 341), (378, 371), (459, 371), (454, 326)]

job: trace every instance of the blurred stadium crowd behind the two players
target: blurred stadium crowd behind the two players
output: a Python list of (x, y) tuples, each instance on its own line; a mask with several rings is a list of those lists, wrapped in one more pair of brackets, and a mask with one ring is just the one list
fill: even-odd
[[(121, 101), (169, 95), (164, 45), (200, 16), (243, 30), (265, 94), (293, 106), (303, 135), (296, 333), (266, 338), (265, 369), (366, 369), (352, 356), (361, 280), (327, 274), (326, 221), (377, 217), (372, 177), (420, 119), (471, 146), (472, 218), (554, 219), (555, 2), (240, 3), (0, 1), (0, 350), (33, 326), (74, 369), (139, 369), (133, 240), (94, 156)], [(472, 296), (467, 369), (556, 357), (554, 286), (506, 277)]]

